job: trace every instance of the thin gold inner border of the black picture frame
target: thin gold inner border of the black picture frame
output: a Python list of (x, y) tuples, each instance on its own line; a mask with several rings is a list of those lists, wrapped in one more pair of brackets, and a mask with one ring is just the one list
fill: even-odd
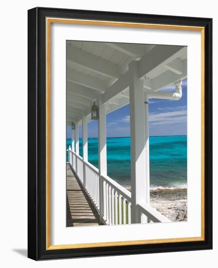
[[(133, 240), (119, 242), (87, 243), (87, 244), (70, 244), (70, 245), (51, 245), (51, 24), (52, 23), (73, 23), (89, 24), (102, 26), (122, 26), (122, 27), (139, 27), (152, 29), (170, 29), (170, 30), (188, 30), (201, 32), (201, 236), (185, 238), (166, 238), (152, 240)], [(127, 245), (146, 245), (176, 242), (204, 241), (205, 223), (204, 223), (204, 58), (205, 58), (205, 30), (204, 27), (167, 25), (167, 24), (150, 24), (150, 23), (132, 23), (104, 20), (87, 20), (87, 19), (60, 19), (46, 18), (46, 249), (81, 249), (95, 247), (112, 247)]]

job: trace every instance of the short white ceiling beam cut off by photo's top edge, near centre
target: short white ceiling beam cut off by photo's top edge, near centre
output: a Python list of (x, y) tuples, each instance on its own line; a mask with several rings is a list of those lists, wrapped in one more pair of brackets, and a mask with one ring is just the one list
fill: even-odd
[(127, 43), (106, 43), (108, 46), (130, 56), (130, 57), (143, 57), (145, 51), (142, 46)]

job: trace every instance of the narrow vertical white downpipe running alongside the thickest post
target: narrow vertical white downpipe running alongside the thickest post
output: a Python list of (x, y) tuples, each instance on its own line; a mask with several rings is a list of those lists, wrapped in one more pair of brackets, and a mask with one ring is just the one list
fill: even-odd
[(149, 163), (149, 125), (148, 125), (148, 96), (145, 94), (145, 198), (150, 203), (150, 163)]

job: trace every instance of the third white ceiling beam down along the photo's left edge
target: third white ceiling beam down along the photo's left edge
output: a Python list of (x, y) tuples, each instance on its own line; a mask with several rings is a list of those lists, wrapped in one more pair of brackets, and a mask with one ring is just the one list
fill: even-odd
[(67, 91), (72, 92), (78, 96), (83, 96), (91, 100), (97, 99), (98, 93), (96, 90), (77, 85), (71, 81), (67, 81)]

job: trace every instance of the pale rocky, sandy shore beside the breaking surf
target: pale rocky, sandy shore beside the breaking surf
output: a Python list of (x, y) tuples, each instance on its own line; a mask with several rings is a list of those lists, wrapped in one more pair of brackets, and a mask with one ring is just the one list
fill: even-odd
[(150, 190), (150, 205), (171, 221), (186, 221), (187, 189)]

